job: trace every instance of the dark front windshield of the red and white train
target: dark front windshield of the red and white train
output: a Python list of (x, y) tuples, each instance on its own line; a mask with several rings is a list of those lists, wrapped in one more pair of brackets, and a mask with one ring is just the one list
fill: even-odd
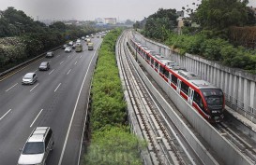
[(222, 106), (223, 92), (221, 89), (201, 89), (208, 106)]

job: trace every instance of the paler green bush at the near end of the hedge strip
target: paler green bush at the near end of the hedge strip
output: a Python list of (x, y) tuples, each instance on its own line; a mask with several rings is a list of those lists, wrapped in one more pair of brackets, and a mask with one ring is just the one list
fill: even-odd
[(94, 132), (83, 164), (141, 165), (140, 150), (145, 147), (145, 143), (126, 130), (113, 127)]

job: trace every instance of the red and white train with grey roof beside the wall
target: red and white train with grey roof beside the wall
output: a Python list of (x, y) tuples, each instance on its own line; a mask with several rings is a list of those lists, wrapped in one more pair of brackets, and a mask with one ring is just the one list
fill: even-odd
[(224, 118), (224, 94), (200, 76), (188, 72), (186, 68), (177, 65), (143, 46), (135, 39), (130, 39), (131, 46), (143, 57), (160, 77), (162, 77), (182, 98), (184, 98), (198, 113), (210, 123), (221, 122)]

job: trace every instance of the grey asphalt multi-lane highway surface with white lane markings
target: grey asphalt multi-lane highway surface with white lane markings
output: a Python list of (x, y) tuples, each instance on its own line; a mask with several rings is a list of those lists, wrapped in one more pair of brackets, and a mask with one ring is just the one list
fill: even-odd
[[(54, 149), (48, 165), (77, 165), (90, 80), (101, 39), (93, 38), (94, 50), (54, 51), (51, 59), (41, 58), (17, 73), (0, 80), (0, 164), (15, 165), (31, 131), (38, 126), (53, 129)], [(38, 71), (40, 62), (51, 69)], [(22, 77), (36, 72), (38, 82), (22, 85)]]

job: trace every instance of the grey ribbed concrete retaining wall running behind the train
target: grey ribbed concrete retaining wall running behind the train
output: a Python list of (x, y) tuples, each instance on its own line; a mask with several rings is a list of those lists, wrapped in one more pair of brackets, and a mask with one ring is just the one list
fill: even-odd
[(134, 35), (141, 43), (184, 66), (204, 80), (209, 81), (225, 93), (226, 105), (256, 123), (256, 76), (242, 70), (229, 68), (186, 53), (185, 56), (173, 52), (169, 47)]

